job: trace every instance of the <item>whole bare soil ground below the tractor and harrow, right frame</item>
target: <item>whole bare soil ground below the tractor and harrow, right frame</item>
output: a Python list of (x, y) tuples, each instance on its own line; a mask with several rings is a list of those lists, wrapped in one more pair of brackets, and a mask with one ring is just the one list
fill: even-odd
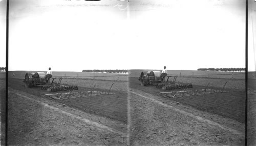
[(244, 145), (244, 91), (164, 98), (159, 93), (166, 91), (138, 78), (129, 83), (131, 145)]

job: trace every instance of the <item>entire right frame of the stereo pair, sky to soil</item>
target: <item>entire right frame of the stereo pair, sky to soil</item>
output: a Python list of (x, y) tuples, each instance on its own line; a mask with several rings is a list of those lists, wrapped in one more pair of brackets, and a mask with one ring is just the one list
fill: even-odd
[(130, 0), (127, 18), (130, 145), (245, 145), (246, 1)]

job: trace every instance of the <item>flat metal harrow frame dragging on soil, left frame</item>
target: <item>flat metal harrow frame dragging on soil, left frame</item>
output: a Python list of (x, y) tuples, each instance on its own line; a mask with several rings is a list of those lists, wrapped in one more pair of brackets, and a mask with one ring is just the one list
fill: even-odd
[(98, 95), (110, 95), (115, 93), (109, 92), (100, 92), (100, 91), (88, 91), (88, 92), (69, 92), (69, 93), (55, 93), (55, 94), (46, 94), (49, 99), (70, 99), (70, 98), (80, 98), (80, 97), (91, 97)]

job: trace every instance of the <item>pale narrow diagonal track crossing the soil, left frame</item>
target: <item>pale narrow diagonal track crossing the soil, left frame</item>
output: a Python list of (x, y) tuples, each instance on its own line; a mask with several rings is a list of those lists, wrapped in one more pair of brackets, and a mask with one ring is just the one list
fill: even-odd
[(32, 98), (29, 98), (29, 97), (24, 96), (24, 95), (19, 94), (19, 93), (14, 93), (14, 94), (18, 95), (18, 97), (23, 97), (23, 98), (32, 100), (32, 101), (37, 102), (37, 103), (39, 103), (39, 104), (41, 104), (41, 105), (44, 105), (44, 106), (46, 106), (46, 107), (49, 107), (49, 108), (51, 108), (51, 109), (53, 109), (53, 110), (55, 110), (55, 111), (61, 112), (61, 113), (63, 113), (63, 114), (66, 114), (66, 115), (68, 115), (68, 116), (71, 116), (72, 118), (78, 119), (78, 120), (80, 120), (80, 121), (82, 121), (82, 122), (85, 122), (85, 123), (87, 123), (87, 124), (89, 124), (89, 125), (95, 126), (95, 127), (98, 128), (99, 130), (104, 129), (104, 130), (108, 130), (108, 131), (113, 132), (113, 133), (121, 134), (122, 136), (126, 136), (126, 133), (123, 133), (123, 132), (121, 132), (121, 131), (115, 130), (115, 129), (113, 129), (113, 128), (104, 126), (104, 125), (102, 125), (102, 124), (99, 124), (99, 123), (96, 123), (96, 122), (93, 122), (93, 121), (90, 121), (90, 120), (88, 120), (88, 119), (81, 118), (80, 116), (74, 115), (74, 114), (72, 114), (72, 113), (70, 113), (70, 112), (67, 112), (67, 111), (64, 111), (64, 110), (61, 110), (61, 109), (59, 109), (59, 108), (57, 108), (57, 107), (51, 106), (51, 105), (46, 104), (46, 103), (44, 103), (44, 102), (41, 102), (41, 101), (38, 101), (38, 100), (35, 100), (35, 99), (32, 99)]

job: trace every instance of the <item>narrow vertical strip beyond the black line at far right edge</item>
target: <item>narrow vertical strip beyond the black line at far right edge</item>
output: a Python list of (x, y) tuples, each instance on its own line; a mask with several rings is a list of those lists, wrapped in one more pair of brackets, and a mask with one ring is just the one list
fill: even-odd
[(256, 1), (248, 1), (247, 143), (256, 145)]

